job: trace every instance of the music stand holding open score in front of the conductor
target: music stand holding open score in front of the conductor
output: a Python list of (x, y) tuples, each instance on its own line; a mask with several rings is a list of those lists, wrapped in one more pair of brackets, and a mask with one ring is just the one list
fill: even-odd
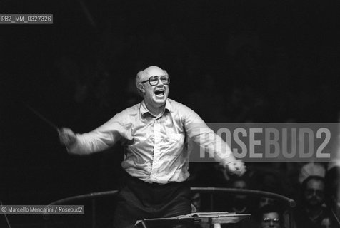
[(154, 228), (163, 227), (165, 225), (179, 224), (225, 224), (236, 223), (243, 219), (247, 219), (251, 214), (236, 214), (228, 212), (206, 212), (206, 213), (191, 213), (171, 218), (161, 219), (143, 219), (136, 222), (136, 228)]

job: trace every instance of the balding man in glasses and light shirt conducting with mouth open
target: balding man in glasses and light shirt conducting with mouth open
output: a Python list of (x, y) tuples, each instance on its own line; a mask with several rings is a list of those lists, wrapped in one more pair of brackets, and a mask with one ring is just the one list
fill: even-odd
[[(217, 162), (238, 175), (244, 163), (236, 160), (221, 140), (193, 110), (168, 98), (168, 73), (150, 66), (139, 71), (136, 87), (144, 100), (90, 133), (75, 134), (69, 128), (59, 138), (69, 152), (88, 155), (118, 141), (125, 145), (121, 166), (126, 171), (119, 190), (114, 227), (134, 227), (144, 218), (175, 217), (191, 213), (188, 138)], [(217, 146), (222, 144), (222, 146)]]

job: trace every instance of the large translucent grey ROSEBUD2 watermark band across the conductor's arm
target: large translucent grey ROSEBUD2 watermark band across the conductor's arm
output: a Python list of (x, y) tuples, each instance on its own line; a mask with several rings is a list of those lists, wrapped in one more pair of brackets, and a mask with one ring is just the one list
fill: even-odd
[(190, 162), (213, 162), (216, 156), (224, 157), (230, 152), (244, 162), (330, 162), (340, 158), (337, 157), (338, 123), (209, 123), (208, 126), (216, 135), (209, 133), (206, 125), (194, 128), (199, 141), (196, 140), (191, 150)]

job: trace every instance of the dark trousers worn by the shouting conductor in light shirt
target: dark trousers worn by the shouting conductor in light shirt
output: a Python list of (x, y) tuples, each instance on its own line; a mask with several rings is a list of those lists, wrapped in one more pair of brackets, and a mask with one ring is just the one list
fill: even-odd
[(136, 221), (141, 219), (175, 217), (189, 213), (190, 188), (186, 182), (150, 184), (126, 174), (117, 196), (114, 228), (134, 227)]

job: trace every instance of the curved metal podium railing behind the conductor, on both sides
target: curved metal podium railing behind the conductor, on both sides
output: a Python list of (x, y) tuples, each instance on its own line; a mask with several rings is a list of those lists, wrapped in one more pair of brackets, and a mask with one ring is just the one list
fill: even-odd
[[(49, 205), (66, 205), (70, 204), (71, 202), (81, 201), (81, 200), (89, 200), (91, 199), (91, 227), (96, 227), (96, 199), (103, 198), (103, 197), (113, 197), (117, 194), (117, 190), (107, 191), (107, 192), (94, 192), (85, 195), (77, 195), (74, 197), (67, 197), (64, 199), (59, 199), (55, 202), (51, 202)], [(289, 227), (294, 227), (294, 215), (293, 209), (296, 207), (296, 202), (293, 199), (285, 197), (284, 195), (279, 195), (272, 192), (264, 192), (259, 190), (239, 190), (239, 189), (232, 189), (232, 188), (224, 188), (224, 187), (191, 187), (191, 192), (207, 192), (209, 193), (209, 200), (210, 200), (210, 209), (214, 211), (214, 194), (216, 192), (225, 192), (229, 195), (249, 195), (249, 196), (256, 196), (256, 197), (268, 197), (271, 199), (276, 199), (276, 201), (281, 202), (284, 204), (286, 209), (289, 212)]]

